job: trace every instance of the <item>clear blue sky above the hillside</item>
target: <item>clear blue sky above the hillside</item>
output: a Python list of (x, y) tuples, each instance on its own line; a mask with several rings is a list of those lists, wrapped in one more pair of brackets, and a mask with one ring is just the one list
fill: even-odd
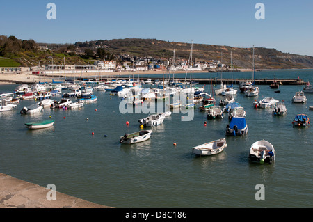
[(312, 0), (1, 0), (0, 10), (0, 35), (35, 42), (155, 38), (313, 56)]

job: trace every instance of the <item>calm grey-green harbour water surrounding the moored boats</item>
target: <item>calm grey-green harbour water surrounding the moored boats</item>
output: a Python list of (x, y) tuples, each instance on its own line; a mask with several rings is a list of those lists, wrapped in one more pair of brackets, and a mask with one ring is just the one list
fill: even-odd
[[(255, 78), (273, 74), (313, 82), (313, 70), (264, 70)], [(204, 75), (209, 78), (209, 74), (193, 77)], [(236, 72), (234, 78), (251, 75)], [(1, 85), (0, 91), (11, 92), (16, 86)], [(173, 113), (152, 129), (150, 140), (121, 145), (120, 136), (138, 131), (138, 119), (147, 114), (120, 113), (121, 100), (110, 93), (95, 91), (97, 102), (81, 110), (45, 109), (35, 116), (19, 114), (34, 103), (21, 101), (14, 111), (0, 113), (0, 172), (43, 187), (55, 184), (57, 191), (111, 207), (313, 207), (312, 125), (301, 129), (291, 125), (298, 113), (313, 120), (308, 109), (313, 95), (306, 95), (307, 104), (292, 104), (291, 98), (303, 86), (280, 86), (281, 93), (259, 88), (258, 97), (236, 95), (247, 113), (248, 134), (227, 136), (227, 148), (211, 157), (195, 157), (191, 148), (225, 137), (227, 114), (223, 120), (207, 120), (206, 113), (195, 109), (193, 120), (184, 122), (181, 117), (186, 114)], [(262, 97), (284, 100), (287, 116), (254, 109), (252, 103)], [(222, 98), (216, 96), (217, 101)], [(24, 126), (49, 116), (56, 120), (54, 127), (30, 131)], [(271, 165), (248, 161), (250, 145), (262, 139), (277, 152)], [(264, 201), (255, 200), (257, 184), (264, 184)]]

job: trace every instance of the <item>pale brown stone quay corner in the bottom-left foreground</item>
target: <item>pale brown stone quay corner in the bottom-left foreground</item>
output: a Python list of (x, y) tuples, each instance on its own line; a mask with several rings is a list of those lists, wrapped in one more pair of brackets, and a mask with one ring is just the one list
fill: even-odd
[(58, 191), (55, 200), (49, 200), (49, 191), (51, 189), (0, 173), (0, 208), (112, 208)]

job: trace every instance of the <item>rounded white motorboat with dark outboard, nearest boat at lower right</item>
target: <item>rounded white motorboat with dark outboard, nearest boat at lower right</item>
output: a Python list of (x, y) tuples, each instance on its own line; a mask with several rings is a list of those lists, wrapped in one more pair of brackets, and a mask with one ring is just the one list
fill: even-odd
[(275, 149), (268, 141), (257, 141), (250, 147), (249, 160), (252, 162), (271, 164), (275, 161), (275, 157)]

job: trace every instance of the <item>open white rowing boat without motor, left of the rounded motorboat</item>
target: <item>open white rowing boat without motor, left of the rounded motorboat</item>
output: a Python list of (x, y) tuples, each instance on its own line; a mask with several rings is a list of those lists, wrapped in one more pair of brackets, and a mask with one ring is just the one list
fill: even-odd
[(218, 154), (227, 147), (227, 143), (225, 138), (220, 138), (216, 141), (211, 141), (209, 143), (204, 143), (202, 145), (197, 145), (193, 150), (193, 154), (198, 156), (211, 156), (214, 154)]

